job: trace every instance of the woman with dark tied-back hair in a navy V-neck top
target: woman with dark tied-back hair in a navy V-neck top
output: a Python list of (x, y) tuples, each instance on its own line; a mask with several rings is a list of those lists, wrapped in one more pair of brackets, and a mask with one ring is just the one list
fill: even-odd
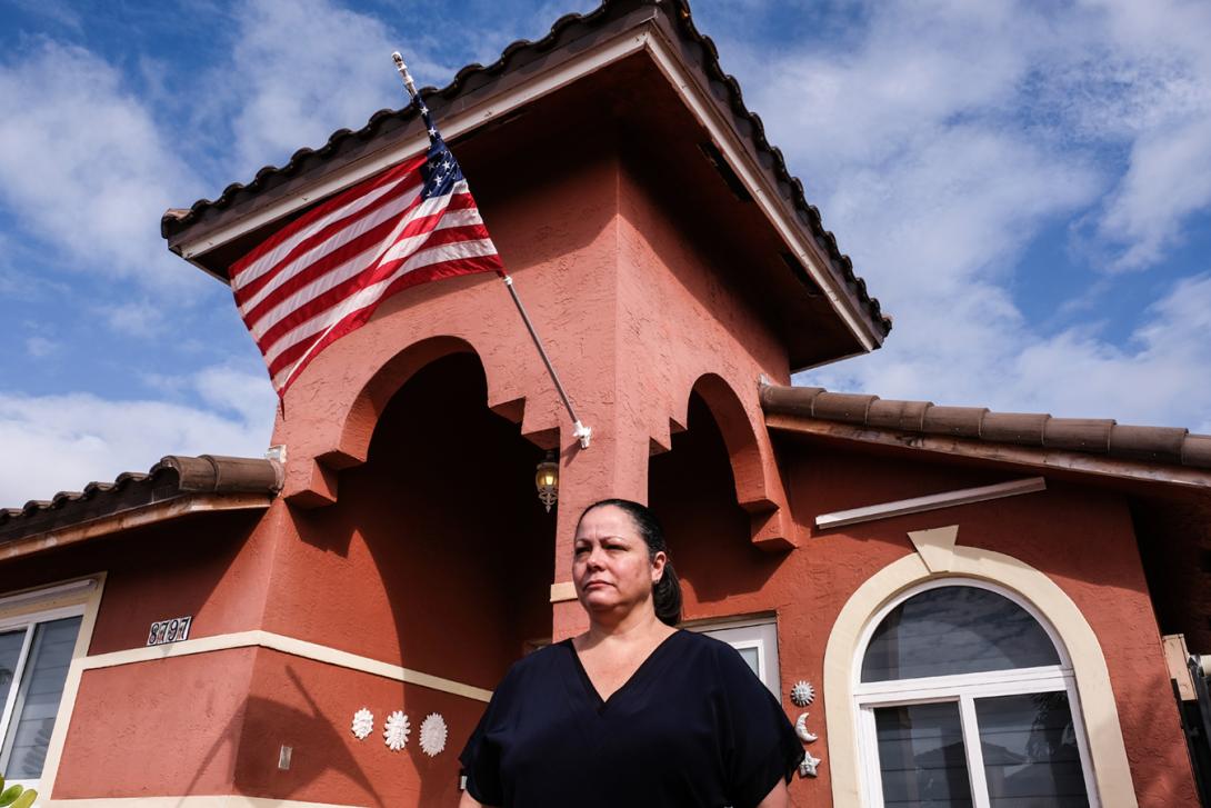
[(512, 666), (460, 757), (460, 808), (784, 808), (803, 747), (727, 643), (676, 629), (660, 525), (590, 505), (572, 580), (589, 631)]

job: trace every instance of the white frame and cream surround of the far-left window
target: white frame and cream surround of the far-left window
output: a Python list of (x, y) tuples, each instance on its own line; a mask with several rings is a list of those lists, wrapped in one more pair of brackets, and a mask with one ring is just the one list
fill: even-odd
[[(67, 729), (67, 721), (70, 715), (70, 709), (75, 701), (75, 683), (73, 682), (71, 671), (76, 666), (76, 660), (85, 653), (87, 643), (92, 637), (92, 623), (90, 618), (96, 618), (96, 608), (99, 601), (101, 586), (104, 580), (104, 575), (94, 575), (90, 578), (84, 578), (79, 580), (73, 580), (63, 584), (56, 584), (51, 586), (41, 586), (34, 590), (27, 590), (16, 592), (12, 595), (0, 595), (0, 632), (8, 632), (15, 630), (25, 630), (25, 638), (22, 643), (21, 654), (17, 658), (17, 665), (13, 669), (12, 686), (8, 689), (8, 695), (5, 698), (2, 705), (0, 705), (0, 773), (2, 773), (7, 766), (7, 757), (4, 756), (5, 752), (5, 740), (8, 735), (10, 724), (13, 716), (17, 715), (17, 699), (21, 692), (22, 677), (25, 672), (25, 666), (29, 661), (29, 653), (33, 648), (34, 631), (36, 626), (41, 623), (50, 623), (52, 620), (62, 620), (64, 618), (79, 617), (80, 630), (76, 634), (75, 647), (71, 654), (70, 667), (68, 671), (68, 678), (64, 682), (63, 695), (59, 700), (58, 710), (54, 717), (54, 730), (52, 732), (51, 740), (47, 747), (47, 758), (42, 767), (42, 773), (36, 779), (5, 779), (5, 787), (10, 785), (21, 785), (25, 789), (38, 789), (40, 804), (42, 800), (48, 796), (48, 791), (44, 786), (48, 783), (46, 775), (52, 768), (52, 750), (56, 746), (56, 739), (62, 739), (63, 733)], [(57, 755), (54, 756), (54, 764), (57, 763)]]

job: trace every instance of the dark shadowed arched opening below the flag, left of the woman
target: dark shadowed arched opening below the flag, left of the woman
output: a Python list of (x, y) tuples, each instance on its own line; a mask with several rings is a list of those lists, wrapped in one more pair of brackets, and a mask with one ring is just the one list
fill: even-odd
[(384, 408), (367, 462), (342, 476), (342, 505), (375, 516), (361, 531), (406, 666), (492, 688), (550, 635), (555, 516), (534, 491), (541, 459), (488, 409), (475, 354), (431, 362)]

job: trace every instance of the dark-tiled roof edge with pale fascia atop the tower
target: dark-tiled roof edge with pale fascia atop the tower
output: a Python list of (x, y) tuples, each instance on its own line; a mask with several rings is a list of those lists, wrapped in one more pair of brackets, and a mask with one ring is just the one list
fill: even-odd
[[(693, 31), (688, 8), (673, 5), (672, 13), (681, 16), (670, 18), (668, 4), (608, 0), (591, 15), (557, 23), (547, 38), (556, 42), (510, 46), (497, 65), (466, 68), (446, 90), (425, 91), (426, 103), (457, 149), (460, 138), (507, 121), (612, 65), (633, 57), (649, 59), (777, 234), (792, 265), (786, 271), (802, 273), (804, 287), (827, 299), (832, 316), (850, 334), (851, 348), (809, 361), (822, 363), (878, 348), (890, 321), (854, 276), (832, 234), (822, 229), (819, 212), (803, 200), (802, 185), (765, 142), (759, 119), (744, 109), (739, 87), (718, 68), (713, 45)], [(323, 149), (297, 153), (288, 166), (263, 170), (248, 187), (230, 187), (217, 202), (166, 216), (170, 250), (226, 282), (231, 246), (241, 239), (258, 231), (268, 235), (320, 200), (426, 147), (427, 137), (411, 108), (379, 113), (356, 137), (337, 133)]]

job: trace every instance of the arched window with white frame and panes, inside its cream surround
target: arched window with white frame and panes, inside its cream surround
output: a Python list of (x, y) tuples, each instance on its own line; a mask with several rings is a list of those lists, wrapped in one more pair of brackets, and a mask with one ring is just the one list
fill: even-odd
[(867, 804), (1097, 804), (1067, 653), (1009, 592), (965, 579), (918, 586), (860, 648)]

